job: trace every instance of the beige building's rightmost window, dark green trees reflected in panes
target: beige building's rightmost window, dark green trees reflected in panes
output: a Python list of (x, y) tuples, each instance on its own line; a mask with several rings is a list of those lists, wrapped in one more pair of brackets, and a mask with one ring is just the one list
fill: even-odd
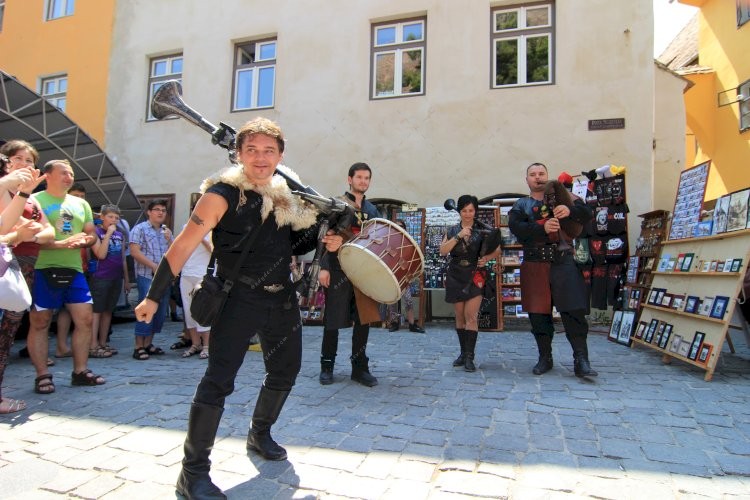
[(552, 67), (551, 3), (492, 10), (492, 86), (549, 84)]

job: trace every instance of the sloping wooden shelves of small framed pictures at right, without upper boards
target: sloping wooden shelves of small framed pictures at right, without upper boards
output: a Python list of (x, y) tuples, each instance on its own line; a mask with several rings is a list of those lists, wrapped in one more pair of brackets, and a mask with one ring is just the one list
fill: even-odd
[[(632, 346), (706, 370), (711, 380), (750, 258), (750, 229), (662, 242)], [(730, 344), (731, 345), (731, 344)]]

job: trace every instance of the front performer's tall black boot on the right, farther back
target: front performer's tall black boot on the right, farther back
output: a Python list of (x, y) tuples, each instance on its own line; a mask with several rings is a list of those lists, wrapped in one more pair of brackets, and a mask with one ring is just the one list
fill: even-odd
[(260, 388), (253, 412), (253, 424), (247, 433), (247, 449), (256, 451), (266, 460), (286, 460), (286, 450), (271, 437), (271, 426), (276, 423), (289, 391)]

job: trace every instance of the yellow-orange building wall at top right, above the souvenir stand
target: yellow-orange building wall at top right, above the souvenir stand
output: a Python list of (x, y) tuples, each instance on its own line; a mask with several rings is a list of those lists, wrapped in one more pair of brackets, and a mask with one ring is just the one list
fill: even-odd
[[(693, 1), (680, 0), (694, 4)], [(737, 28), (735, 2), (697, 2), (700, 11), (699, 64), (711, 74), (686, 75), (696, 85), (685, 93), (687, 125), (699, 142), (695, 163), (712, 160), (706, 199), (750, 186), (750, 130), (739, 131), (739, 104), (718, 106), (717, 94), (750, 79), (750, 23)], [(734, 97), (734, 92), (728, 96)], [(686, 137), (692, 149), (694, 138)]]

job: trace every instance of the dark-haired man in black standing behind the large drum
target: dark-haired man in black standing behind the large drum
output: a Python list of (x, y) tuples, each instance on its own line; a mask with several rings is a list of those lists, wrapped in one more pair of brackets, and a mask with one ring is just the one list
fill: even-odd
[[(362, 224), (379, 216), (375, 205), (367, 201), (365, 192), (370, 187), (372, 170), (366, 163), (355, 163), (349, 167), (347, 183), (349, 190), (340, 197), (354, 208), (356, 219), (352, 223), (353, 236), (359, 234)], [(338, 252), (327, 253), (320, 263), (318, 280), (325, 289), (326, 309), (323, 316), (323, 343), (320, 349), (320, 383), (333, 383), (333, 366), (339, 343), (339, 328), (352, 330), (352, 380), (367, 387), (378, 385), (378, 379), (370, 374), (367, 358), (367, 338), (370, 323), (380, 321), (378, 304), (355, 288), (339, 264)]]

